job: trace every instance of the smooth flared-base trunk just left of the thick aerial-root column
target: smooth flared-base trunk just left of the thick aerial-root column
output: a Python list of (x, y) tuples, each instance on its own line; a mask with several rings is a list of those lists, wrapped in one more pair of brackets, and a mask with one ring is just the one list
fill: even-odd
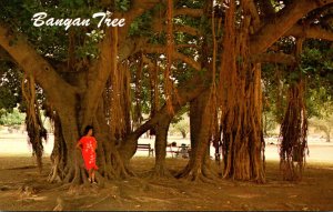
[(211, 91), (206, 90), (190, 102), (191, 153), (188, 165), (176, 174), (176, 178), (190, 181), (206, 182), (215, 174), (210, 169), (210, 139), (211, 139)]

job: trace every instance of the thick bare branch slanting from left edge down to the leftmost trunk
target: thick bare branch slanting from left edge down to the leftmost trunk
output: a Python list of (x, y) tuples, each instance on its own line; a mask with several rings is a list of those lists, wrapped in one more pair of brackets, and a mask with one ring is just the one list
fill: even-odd
[[(14, 43), (11, 44), (11, 42)], [(22, 34), (11, 34), (10, 29), (0, 23), (0, 46), (24, 70), (32, 74), (36, 82), (43, 89), (48, 100), (56, 110), (63, 108), (63, 100), (73, 103), (77, 89), (67, 83), (53, 67), (37, 53), (36, 49)], [(54, 88), (58, 88), (57, 90)], [(58, 110), (60, 111), (60, 110)]]

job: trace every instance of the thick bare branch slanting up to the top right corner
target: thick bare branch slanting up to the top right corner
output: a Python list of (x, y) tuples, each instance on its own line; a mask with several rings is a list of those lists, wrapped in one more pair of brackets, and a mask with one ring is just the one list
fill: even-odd
[(269, 21), (251, 37), (250, 51), (252, 54), (262, 53), (271, 47), (279, 38), (287, 32), (302, 17), (310, 11), (332, 3), (333, 0), (321, 1), (297, 0), (289, 4), (276, 14), (273, 21)]

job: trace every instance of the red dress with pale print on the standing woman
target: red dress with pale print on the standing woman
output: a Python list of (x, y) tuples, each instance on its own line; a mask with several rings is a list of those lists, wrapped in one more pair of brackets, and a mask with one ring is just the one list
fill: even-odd
[(95, 164), (95, 147), (97, 141), (93, 137), (82, 137), (79, 141), (82, 145), (82, 157), (84, 160), (84, 166), (87, 170), (98, 170), (99, 168)]

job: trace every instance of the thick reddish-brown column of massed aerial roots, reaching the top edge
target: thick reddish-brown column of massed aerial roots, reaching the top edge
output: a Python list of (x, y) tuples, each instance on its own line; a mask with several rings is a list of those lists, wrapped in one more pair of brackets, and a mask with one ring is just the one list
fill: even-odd
[[(235, 4), (225, 18), (220, 89), (224, 178), (264, 182), (261, 65), (250, 62), (250, 34), (256, 27), (250, 1), (242, 1), (242, 23), (235, 27)], [(252, 26), (253, 24), (253, 26)]]

